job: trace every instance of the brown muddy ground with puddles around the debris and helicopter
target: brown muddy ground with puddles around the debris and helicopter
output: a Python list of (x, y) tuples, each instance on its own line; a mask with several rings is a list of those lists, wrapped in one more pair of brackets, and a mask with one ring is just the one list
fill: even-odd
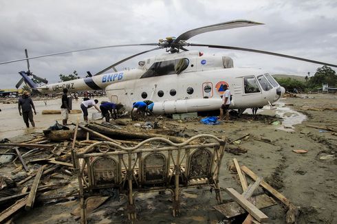
[[(214, 126), (200, 124), (199, 119), (201, 117), (189, 121), (164, 119), (160, 124), (168, 128), (170, 126), (186, 127), (183, 133), (185, 137), (199, 133), (210, 133), (218, 137), (226, 135), (229, 139), (237, 139), (250, 133), (248, 139), (241, 141), (241, 146), (248, 149), (248, 153), (241, 155), (226, 153), (224, 155), (219, 178), (221, 188), (231, 187), (238, 192), (242, 192), (239, 178), (235, 173), (228, 170), (232, 159), (237, 158), (239, 164), (247, 166), (257, 175), (263, 177), (294, 205), (301, 207), (297, 219), (298, 223), (337, 223), (337, 136), (332, 135), (330, 131), (306, 126), (311, 124), (336, 128), (336, 111), (316, 110), (336, 108), (336, 102), (337, 96), (329, 94), (283, 98), (279, 104), (276, 104), (276, 107), (279, 107), (282, 111), (281, 107), (290, 105), (290, 108), (300, 112), (298, 115), (286, 110), (283, 116), (291, 117), (290, 120), (296, 120), (298, 116), (301, 117), (299, 120), (305, 118), (301, 124), (296, 124), (293, 128), (289, 119), (284, 121), (287, 123), (285, 127), (282, 124), (272, 124), (275, 121), (281, 121), (282, 123), (283, 120), (276, 115), (278, 110), (269, 110), (268, 108), (258, 112), (256, 117), (246, 114), (241, 118), (232, 117), (231, 122), (222, 122)], [(43, 105), (43, 102), (41, 104)], [(54, 105), (54, 103), (50, 102), (50, 105)], [(7, 113), (6, 110), (3, 111)], [(41, 129), (50, 126), (52, 121), (55, 120), (55, 118), (47, 118), (46, 121), (42, 116), (41, 122), (37, 122), (39, 128), (32, 129), (30, 133), (38, 133)], [(59, 116), (57, 119), (61, 122), (61, 115)], [(8, 119), (10, 118), (8, 117)], [(76, 116), (73, 115), (71, 120), (75, 122), (75, 119)], [(123, 120), (129, 122), (131, 126), (135, 123), (131, 122), (130, 119)], [(19, 124), (19, 120), (17, 122)], [(0, 134), (2, 135), (0, 135), (0, 138), (3, 138), (3, 136), (6, 136), (6, 131), (1, 128)], [(25, 135), (24, 132), (22, 134)], [(254, 137), (270, 139), (271, 144), (257, 141)], [(307, 150), (307, 153), (294, 153), (292, 150), (296, 149)], [(1, 173), (4, 173), (14, 168), (14, 165), (11, 164), (2, 166), (0, 169)], [(8, 175), (11, 176), (10, 173)], [(76, 179), (74, 177), (66, 178), (72, 181), (69, 186), (76, 188)], [(249, 178), (248, 181), (252, 182)], [(66, 188), (69, 188), (69, 186)], [(58, 190), (58, 192), (63, 191), (65, 190)], [(259, 188), (258, 191), (262, 192), (263, 190)], [(224, 200), (230, 200), (224, 190), (221, 193)], [(209, 188), (184, 190), (182, 194), (182, 214), (176, 218), (171, 216), (171, 196), (168, 193), (140, 194), (136, 198), (135, 204), (138, 213), (136, 223), (218, 223), (224, 219), (224, 216), (213, 208), (217, 203), (215, 193), (210, 193)], [(124, 207), (120, 207), (120, 205)], [(126, 223), (125, 205), (125, 199), (120, 201), (109, 199), (89, 215), (89, 223)], [(34, 209), (30, 212), (22, 211), (17, 214), (14, 217), (14, 223), (78, 223), (76, 217), (70, 214), (77, 206), (76, 197), (63, 201), (56, 200), (56, 202), (47, 204), (36, 203)], [(269, 223), (285, 223), (285, 209), (281, 203), (262, 211), (270, 217)], [(235, 223), (235, 221), (232, 221), (232, 223)], [(239, 219), (236, 223), (239, 223)]]

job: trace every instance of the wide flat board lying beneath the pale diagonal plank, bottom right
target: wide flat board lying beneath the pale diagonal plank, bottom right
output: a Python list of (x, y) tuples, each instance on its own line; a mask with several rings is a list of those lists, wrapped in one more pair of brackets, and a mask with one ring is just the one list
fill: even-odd
[[(276, 205), (276, 201), (269, 197), (267, 194), (261, 194), (257, 197), (251, 197), (250, 200), (256, 201), (256, 206), (259, 209), (262, 208), (268, 208), (270, 206)], [(221, 212), (221, 214), (224, 214), (226, 216), (226, 219), (232, 219), (235, 216), (239, 216), (241, 214), (246, 214), (247, 211), (244, 210), (237, 202), (231, 201), (225, 204), (221, 205), (215, 205), (213, 208), (215, 208), (217, 211)]]

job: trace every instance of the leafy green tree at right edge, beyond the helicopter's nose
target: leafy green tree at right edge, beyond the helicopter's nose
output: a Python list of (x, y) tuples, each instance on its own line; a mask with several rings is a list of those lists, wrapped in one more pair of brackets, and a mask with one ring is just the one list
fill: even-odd
[(336, 71), (324, 65), (316, 70), (316, 74), (308, 81), (308, 86), (311, 88), (322, 87), (323, 84), (328, 84), (329, 87), (337, 85)]

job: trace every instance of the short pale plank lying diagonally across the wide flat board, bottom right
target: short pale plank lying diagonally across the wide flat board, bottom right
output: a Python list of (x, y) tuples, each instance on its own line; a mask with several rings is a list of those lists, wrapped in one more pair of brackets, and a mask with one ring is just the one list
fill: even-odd
[(230, 196), (233, 199), (235, 199), (235, 201), (237, 201), (239, 205), (241, 205), (245, 210), (247, 210), (249, 214), (251, 214), (255, 219), (257, 219), (257, 221), (259, 221), (260, 223), (268, 221), (268, 216), (263, 214), (263, 212), (261, 212), (255, 205), (250, 203), (250, 201), (245, 199), (241, 194), (239, 194), (239, 192), (237, 192), (233, 188), (226, 188), (226, 192), (228, 192), (228, 194), (230, 194)]

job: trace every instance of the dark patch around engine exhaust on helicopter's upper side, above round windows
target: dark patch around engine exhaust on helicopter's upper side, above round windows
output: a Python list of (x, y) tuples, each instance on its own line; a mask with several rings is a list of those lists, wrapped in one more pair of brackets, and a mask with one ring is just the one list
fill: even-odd
[(180, 74), (188, 67), (188, 62), (187, 58), (180, 58), (153, 63), (149, 70), (147, 70), (140, 78)]

